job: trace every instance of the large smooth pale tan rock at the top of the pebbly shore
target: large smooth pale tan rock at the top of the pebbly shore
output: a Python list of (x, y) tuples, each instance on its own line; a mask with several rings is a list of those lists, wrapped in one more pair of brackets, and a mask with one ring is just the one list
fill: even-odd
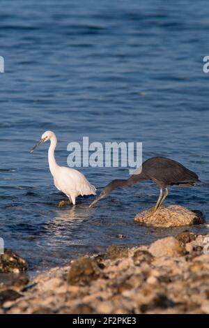
[(176, 257), (185, 253), (184, 248), (174, 237), (166, 237), (153, 242), (153, 244), (150, 245), (149, 251), (157, 258), (162, 256)]

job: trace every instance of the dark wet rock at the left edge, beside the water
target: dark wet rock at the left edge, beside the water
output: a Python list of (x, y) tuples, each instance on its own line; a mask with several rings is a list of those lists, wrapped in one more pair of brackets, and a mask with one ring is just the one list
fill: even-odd
[(26, 260), (10, 249), (6, 249), (4, 254), (0, 255), (0, 273), (18, 274), (26, 269), (28, 269)]

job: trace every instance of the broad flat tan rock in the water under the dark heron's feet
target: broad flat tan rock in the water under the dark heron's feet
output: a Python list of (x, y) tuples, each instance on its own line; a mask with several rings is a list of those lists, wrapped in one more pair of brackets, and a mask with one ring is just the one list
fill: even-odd
[(189, 209), (179, 205), (160, 207), (154, 213), (152, 213), (152, 209), (148, 209), (137, 214), (134, 217), (134, 221), (143, 225), (161, 228), (205, 223), (200, 211), (190, 211)]

